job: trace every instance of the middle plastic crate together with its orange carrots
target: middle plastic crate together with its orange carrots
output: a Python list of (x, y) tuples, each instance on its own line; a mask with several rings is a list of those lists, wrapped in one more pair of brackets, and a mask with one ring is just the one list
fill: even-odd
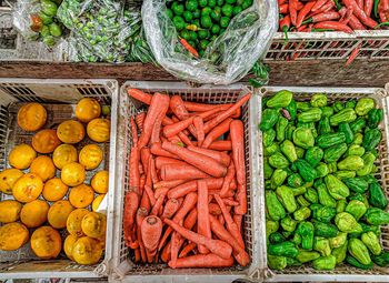
[(228, 282), (258, 276), (257, 95), (159, 82), (122, 92), (112, 280), (172, 280), (180, 269)]

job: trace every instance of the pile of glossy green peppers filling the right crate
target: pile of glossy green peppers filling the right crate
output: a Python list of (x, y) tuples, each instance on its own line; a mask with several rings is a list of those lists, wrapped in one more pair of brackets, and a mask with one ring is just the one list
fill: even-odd
[(259, 125), (268, 266), (388, 266), (379, 228), (389, 224), (388, 201), (373, 175), (382, 109), (371, 98), (295, 98), (287, 90), (265, 98)]

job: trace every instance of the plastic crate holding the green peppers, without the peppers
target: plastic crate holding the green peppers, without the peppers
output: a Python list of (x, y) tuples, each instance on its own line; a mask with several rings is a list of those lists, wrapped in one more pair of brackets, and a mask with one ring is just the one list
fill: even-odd
[[(359, 98), (373, 98), (377, 105), (383, 109), (385, 119), (379, 125), (382, 131), (382, 140), (378, 145), (379, 158), (376, 161), (378, 172), (375, 174), (377, 180), (379, 180), (381, 188), (383, 189), (387, 198), (389, 195), (389, 184), (388, 184), (388, 101), (389, 93), (388, 88), (303, 88), (303, 87), (268, 87), (261, 89), (260, 97), (272, 95), (280, 90), (290, 90), (295, 93), (296, 101), (309, 101), (315, 93), (325, 93), (328, 97), (329, 102), (333, 100), (348, 101), (350, 99)], [(261, 99), (260, 99), (261, 100)], [(261, 102), (260, 107), (261, 109)], [(261, 111), (260, 111), (261, 112)], [(261, 113), (260, 113), (261, 114)], [(260, 202), (265, 203), (265, 180), (263, 180), (263, 148), (262, 148), (262, 133), (259, 133), (259, 161), (260, 161), (260, 188), (262, 193), (260, 194)], [(260, 214), (263, 215), (261, 221), (265, 219), (265, 205), (261, 206)], [(388, 243), (388, 226), (381, 226), (381, 245), (385, 251), (389, 250)], [(266, 243), (266, 233), (262, 234), (262, 243)], [(266, 251), (263, 246), (262, 251)], [(266, 255), (263, 256), (267, 257)], [(350, 265), (339, 265), (333, 271), (317, 271), (308, 264), (299, 267), (287, 267), (283, 271), (275, 271), (267, 267), (265, 264), (265, 282), (331, 282), (331, 281), (343, 281), (343, 282), (388, 282), (389, 269), (380, 267), (375, 265), (371, 270), (360, 270), (352, 267)]]

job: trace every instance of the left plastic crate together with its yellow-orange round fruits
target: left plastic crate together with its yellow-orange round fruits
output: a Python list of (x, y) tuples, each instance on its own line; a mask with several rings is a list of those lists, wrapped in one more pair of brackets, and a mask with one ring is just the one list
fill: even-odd
[(107, 275), (117, 95), (111, 80), (0, 80), (0, 280)]

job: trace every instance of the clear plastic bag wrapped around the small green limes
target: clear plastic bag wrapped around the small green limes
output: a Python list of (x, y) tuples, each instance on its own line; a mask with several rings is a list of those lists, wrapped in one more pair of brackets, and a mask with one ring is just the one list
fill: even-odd
[(261, 59), (278, 27), (275, 0), (255, 0), (237, 14), (226, 32), (196, 59), (181, 46), (166, 0), (144, 0), (143, 29), (156, 61), (173, 75), (199, 83), (230, 84), (242, 79)]

